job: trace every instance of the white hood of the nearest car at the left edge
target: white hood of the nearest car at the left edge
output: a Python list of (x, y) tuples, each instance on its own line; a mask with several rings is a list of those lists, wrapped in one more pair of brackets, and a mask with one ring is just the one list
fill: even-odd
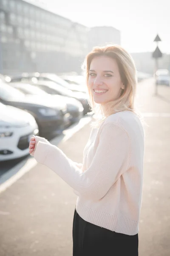
[(0, 128), (2, 126), (26, 126), (33, 120), (35, 120), (34, 117), (26, 111), (8, 105), (0, 105)]

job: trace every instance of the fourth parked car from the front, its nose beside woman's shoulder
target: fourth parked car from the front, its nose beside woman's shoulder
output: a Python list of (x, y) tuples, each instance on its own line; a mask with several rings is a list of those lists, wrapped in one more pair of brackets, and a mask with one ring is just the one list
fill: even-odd
[(84, 108), (84, 115), (90, 111), (90, 106), (88, 104), (88, 96), (85, 93), (73, 92), (72, 90), (62, 87), (60, 84), (51, 81), (37, 81), (34, 83), (34, 85), (36, 87), (39, 87), (41, 90), (44, 90), (46, 93), (52, 95), (62, 95), (69, 98), (77, 99)]

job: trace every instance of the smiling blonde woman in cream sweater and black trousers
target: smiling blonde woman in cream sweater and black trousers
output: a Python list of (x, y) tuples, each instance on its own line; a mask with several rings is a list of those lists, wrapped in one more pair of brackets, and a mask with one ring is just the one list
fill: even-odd
[(98, 118), (83, 163), (41, 137), (30, 154), (78, 195), (73, 256), (137, 256), (142, 198), (144, 130), (134, 108), (136, 69), (120, 46), (96, 47), (85, 59), (92, 110)]

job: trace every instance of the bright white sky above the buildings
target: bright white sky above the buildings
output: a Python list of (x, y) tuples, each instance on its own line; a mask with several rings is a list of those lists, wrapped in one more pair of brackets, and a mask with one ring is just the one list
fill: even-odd
[(153, 51), (156, 34), (162, 52), (170, 53), (169, 0), (40, 0), (61, 16), (85, 26), (113, 26), (129, 52)]

